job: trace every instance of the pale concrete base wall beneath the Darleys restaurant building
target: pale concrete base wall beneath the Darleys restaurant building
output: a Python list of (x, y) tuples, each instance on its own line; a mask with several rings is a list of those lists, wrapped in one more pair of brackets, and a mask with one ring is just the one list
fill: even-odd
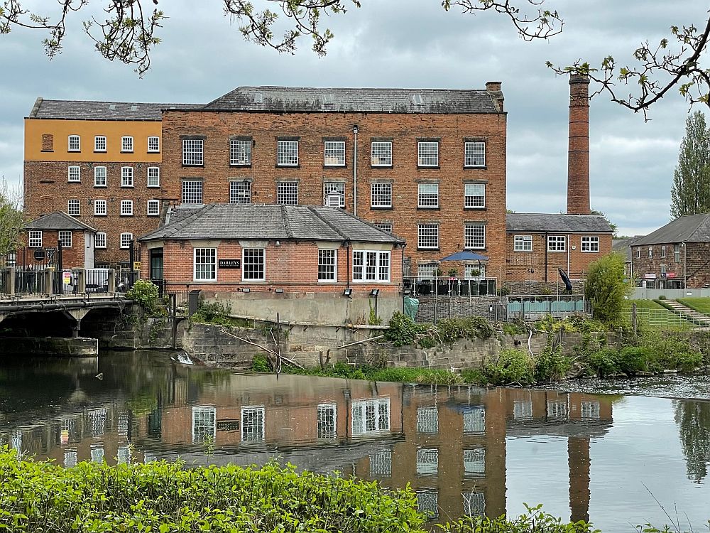
[[(303, 294), (274, 293), (214, 293), (203, 291), (206, 303), (218, 302), (237, 316), (253, 316), (275, 321), (310, 322), (329, 325), (346, 323), (367, 324), (370, 309), (375, 308), (375, 298), (347, 298), (342, 294), (306, 292)], [(401, 296), (379, 296), (377, 316), (384, 325), (392, 313), (402, 311)]]

